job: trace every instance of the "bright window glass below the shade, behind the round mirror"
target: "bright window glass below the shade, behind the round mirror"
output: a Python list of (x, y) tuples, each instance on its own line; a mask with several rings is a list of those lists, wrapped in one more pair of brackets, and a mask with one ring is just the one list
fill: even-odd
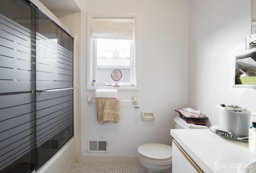
[[(134, 85), (133, 40), (93, 39), (96, 50), (96, 83), (105, 86), (112, 82), (110, 74), (114, 69), (122, 72), (119, 86)], [(93, 46), (93, 47), (94, 47)], [(107, 82), (108, 81), (108, 82)]]

